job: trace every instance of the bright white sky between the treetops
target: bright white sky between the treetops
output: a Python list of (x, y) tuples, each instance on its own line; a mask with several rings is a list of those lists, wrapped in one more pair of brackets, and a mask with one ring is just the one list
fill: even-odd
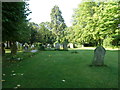
[(77, 8), (81, 0), (29, 0), (29, 9), (32, 13), (28, 16), (30, 22), (40, 24), (50, 21), (50, 13), (54, 5), (58, 5), (67, 26), (72, 25), (73, 9)]

